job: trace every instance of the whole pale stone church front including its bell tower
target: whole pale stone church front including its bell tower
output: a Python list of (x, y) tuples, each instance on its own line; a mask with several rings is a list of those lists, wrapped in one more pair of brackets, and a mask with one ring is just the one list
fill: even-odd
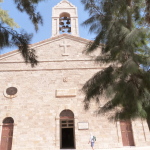
[(0, 150), (89, 150), (91, 132), (95, 149), (150, 149), (149, 122), (109, 122), (95, 103), (84, 110), (81, 88), (106, 66), (83, 53), (89, 41), (79, 37), (77, 8), (62, 0), (52, 26), (51, 38), (31, 45), (35, 68), (17, 50), (0, 56)]

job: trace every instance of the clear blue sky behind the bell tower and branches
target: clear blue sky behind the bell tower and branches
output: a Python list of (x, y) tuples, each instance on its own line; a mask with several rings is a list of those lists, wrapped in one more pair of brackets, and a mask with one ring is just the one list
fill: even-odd
[[(9, 15), (18, 23), (20, 26), (17, 31), (24, 29), (28, 33), (33, 33), (32, 43), (40, 42), (42, 40), (48, 39), (51, 37), (51, 16), (52, 16), (52, 7), (54, 7), (61, 0), (45, 0), (45, 2), (41, 2), (38, 5), (38, 11), (41, 13), (43, 17), (43, 25), (39, 26), (39, 30), (36, 33), (34, 30), (34, 26), (29, 21), (28, 16), (25, 13), (20, 13), (14, 5), (12, 0), (5, 0), (3, 3), (0, 3), (2, 9), (8, 10)], [(81, 4), (80, 0), (69, 0), (73, 5), (75, 5), (78, 9), (78, 17), (79, 17), (79, 33), (80, 37), (93, 40), (95, 35), (90, 34), (88, 32), (88, 27), (83, 27), (81, 24), (85, 21), (89, 16), (88, 13), (84, 11), (84, 6)], [(7, 53), (9, 51), (15, 50), (16, 47), (13, 48), (5, 48), (0, 54)]]

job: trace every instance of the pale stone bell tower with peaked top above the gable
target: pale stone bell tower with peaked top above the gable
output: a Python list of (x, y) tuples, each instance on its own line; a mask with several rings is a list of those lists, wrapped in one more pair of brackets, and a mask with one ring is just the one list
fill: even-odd
[(62, 0), (52, 9), (52, 37), (67, 33), (79, 36), (77, 8)]

